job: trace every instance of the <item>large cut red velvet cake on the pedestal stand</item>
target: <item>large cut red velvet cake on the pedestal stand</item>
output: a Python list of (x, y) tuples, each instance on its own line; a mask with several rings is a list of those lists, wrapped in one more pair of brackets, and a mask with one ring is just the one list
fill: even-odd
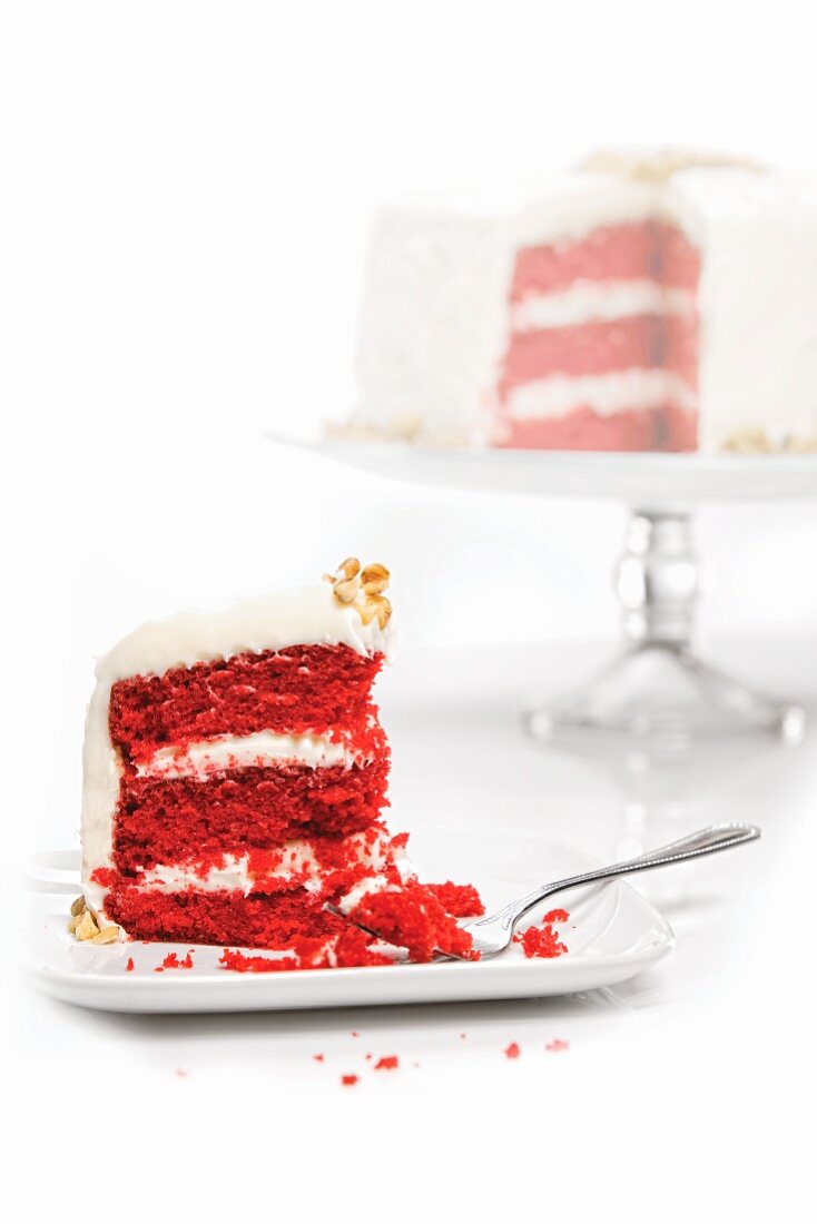
[(608, 152), (523, 202), (385, 209), (359, 437), (588, 450), (817, 449), (817, 185)]

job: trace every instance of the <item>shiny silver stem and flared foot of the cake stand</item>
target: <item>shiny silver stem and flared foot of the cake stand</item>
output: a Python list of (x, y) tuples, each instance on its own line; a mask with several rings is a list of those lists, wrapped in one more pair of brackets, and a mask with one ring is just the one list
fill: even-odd
[(623, 652), (565, 700), (534, 703), (524, 715), (534, 737), (670, 750), (752, 733), (802, 737), (799, 706), (752, 692), (693, 650), (698, 565), (688, 514), (631, 515), (616, 590)]

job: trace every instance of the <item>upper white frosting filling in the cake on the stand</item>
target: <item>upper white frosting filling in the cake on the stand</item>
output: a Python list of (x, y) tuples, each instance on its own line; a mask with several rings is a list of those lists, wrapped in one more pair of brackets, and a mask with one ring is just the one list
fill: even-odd
[(633, 315), (690, 315), (695, 296), (682, 289), (664, 289), (654, 280), (577, 280), (552, 294), (535, 294), (514, 302), (510, 312), (513, 332), (573, 327), (594, 319)]

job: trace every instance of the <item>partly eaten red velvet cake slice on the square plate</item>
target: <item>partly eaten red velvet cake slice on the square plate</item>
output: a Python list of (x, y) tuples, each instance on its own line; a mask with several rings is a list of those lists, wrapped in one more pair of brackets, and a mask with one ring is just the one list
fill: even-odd
[[(97, 668), (86, 727), (82, 940), (236, 944), (296, 967), (468, 956), (473, 890), (424, 887), (381, 819), (390, 749), (371, 689), (388, 570), (146, 624)], [(349, 914), (353, 922), (343, 917)]]

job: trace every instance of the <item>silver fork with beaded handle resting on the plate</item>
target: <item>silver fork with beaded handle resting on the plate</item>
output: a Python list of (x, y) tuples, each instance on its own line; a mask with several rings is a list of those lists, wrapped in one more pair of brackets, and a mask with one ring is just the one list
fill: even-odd
[[(731, 849), (732, 846), (744, 846), (756, 841), (759, 836), (761, 830), (756, 825), (710, 825), (708, 829), (701, 829), (697, 834), (691, 834), (680, 841), (670, 842), (669, 846), (661, 846), (660, 849), (639, 854), (638, 858), (630, 858), (623, 863), (615, 863), (612, 867), (600, 867), (594, 871), (583, 871), (581, 875), (571, 875), (565, 880), (545, 884), (534, 892), (528, 892), (524, 897), (511, 901), (495, 914), (465, 923), (463, 930), (467, 930), (473, 938), (474, 950), (480, 953), (480, 958), (486, 960), (508, 946), (519, 918), (557, 892), (567, 892), (568, 889), (578, 889), (599, 880), (612, 880), (617, 875), (649, 871), (654, 867), (685, 863), (687, 859), (701, 858), (703, 854), (717, 854), (721, 849)], [(446, 960), (461, 960), (450, 952), (440, 952), (439, 955)]]

